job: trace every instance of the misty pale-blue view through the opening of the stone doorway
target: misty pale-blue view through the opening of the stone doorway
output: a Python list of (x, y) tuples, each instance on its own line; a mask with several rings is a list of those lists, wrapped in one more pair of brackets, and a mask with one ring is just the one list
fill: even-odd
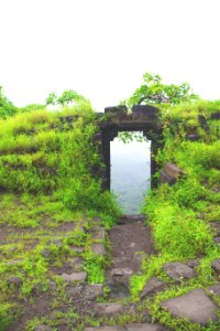
[[(143, 132), (142, 134), (143, 137)], [(110, 190), (124, 214), (140, 214), (151, 189), (151, 141), (110, 142)]]

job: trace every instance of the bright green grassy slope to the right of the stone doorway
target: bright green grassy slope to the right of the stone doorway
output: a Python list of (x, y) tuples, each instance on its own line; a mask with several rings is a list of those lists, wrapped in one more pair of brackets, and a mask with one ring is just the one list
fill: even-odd
[[(211, 261), (220, 256), (220, 249), (213, 242), (215, 233), (210, 222), (220, 221), (220, 128), (219, 121), (211, 120), (212, 113), (220, 110), (220, 102), (198, 102), (182, 105), (173, 109), (163, 109), (164, 149), (158, 151), (157, 162), (161, 168), (166, 162), (176, 163), (185, 175), (176, 184), (161, 185), (146, 199), (144, 213), (153, 228), (158, 256), (151, 256), (143, 261), (143, 275), (133, 276), (132, 292), (134, 299), (145, 281), (157, 276), (166, 282), (167, 277), (162, 266), (167, 261), (180, 261), (198, 258), (198, 277), (175, 284), (154, 300), (146, 302), (152, 316), (173, 330), (205, 330), (184, 320), (170, 317), (160, 308), (160, 302), (185, 293), (194, 288), (207, 288), (218, 281), (211, 269)], [(204, 115), (209, 122), (206, 131), (198, 122), (198, 115)], [(184, 125), (170, 126), (172, 121)], [(188, 134), (199, 134), (199, 141), (186, 139)], [(213, 299), (220, 305), (219, 298)], [(219, 330), (219, 323), (206, 327), (206, 330)]]

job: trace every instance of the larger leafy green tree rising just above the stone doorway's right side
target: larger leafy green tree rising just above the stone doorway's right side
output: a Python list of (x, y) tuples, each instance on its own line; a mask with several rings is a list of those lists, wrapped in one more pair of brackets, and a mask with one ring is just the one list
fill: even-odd
[(143, 75), (143, 84), (136, 88), (132, 96), (124, 103), (131, 107), (141, 104), (169, 104), (176, 105), (183, 102), (191, 102), (198, 96), (193, 93), (188, 83), (163, 84), (162, 77), (157, 74), (145, 73)]

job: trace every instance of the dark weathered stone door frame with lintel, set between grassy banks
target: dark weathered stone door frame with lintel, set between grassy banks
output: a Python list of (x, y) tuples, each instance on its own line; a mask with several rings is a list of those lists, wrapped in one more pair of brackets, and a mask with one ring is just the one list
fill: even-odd
[[(101, 115), (100, 115), (101, 116)], [(96, 139), (100, 140), (101, 153), (106, 164), (103, 178), (103, 188), (110, 190), (111, 180), (111, 157), (110, 141), (112, 141), (120, 131), (143, 131), (143, 136), (151, 140), (151, 186), (156, 186), (154, 177), (157, 171), (157, 164), (154, 159), (160, 146), (162, 146), (162, 127), (158, 120), (158, 109), (147, 105), (135, 105), (132, 113), (128, 114), (125, 106), (108, 107), (105, 115), (98, 121), (100, 132)]]

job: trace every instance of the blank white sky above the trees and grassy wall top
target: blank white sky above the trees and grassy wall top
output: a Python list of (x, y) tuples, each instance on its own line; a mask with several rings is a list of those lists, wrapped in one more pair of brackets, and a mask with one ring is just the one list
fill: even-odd
[(0, 85), (18, 106), (72, 88), (97, 110), (142, 75), (220, 98), (220, 0), (0, 0)]

